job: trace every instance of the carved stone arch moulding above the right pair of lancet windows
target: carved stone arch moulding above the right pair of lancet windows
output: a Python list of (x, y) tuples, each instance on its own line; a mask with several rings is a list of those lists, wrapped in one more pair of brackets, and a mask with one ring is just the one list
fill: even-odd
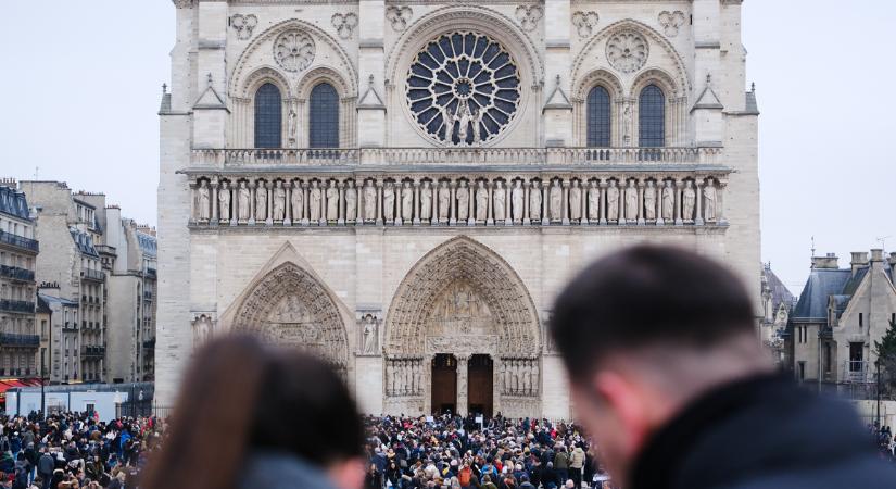
[[(593, 70), (593, 63), (590, 61), (590, 55), (593, 53), (593, 50), (601, 46), (603, 42), (608, 42), (608, 39), (614, 37), (619, 33), (624, 32), (636, 32), (641, 36), (644, 37), (647, 41), (652, 43), (651, 50), (656, 53), (657, 49), (661, 49), (671, 60), (674, 70), (674, 79), (678, 80), (674, 86), (679, 87), (680, 95), (683, 95), (687, 90), (691, 89), (691, 80), (687, 75), (686, 65), (684, 63), (684, 59), (679, 54), (679, 52), (674, 49), (674, 47), (669, 42), (669, 39), (666, 38), (662, 34), (658, 33), (656, 29), (636, 22), (632, 20), (624, 20), (616, 22), (603, 30), (601, 30), (596, 36), (591, 38), (583, 47), (579, 54), (576, 57), (576, 60), (572, 63), (572, 80), (578, 85), (580, 84), (582, 77), (585, 73), (591, 72)], [(652, 55), (651, 60), (654, 60), (655, 57)], [(648, 61), (651, 61), (648, 60)], [(647, 65), (649, 70), (654, 68), (654, 62), (651, 61), (651, 64)], [(680, 96), (677, 93), (677, 96)]]

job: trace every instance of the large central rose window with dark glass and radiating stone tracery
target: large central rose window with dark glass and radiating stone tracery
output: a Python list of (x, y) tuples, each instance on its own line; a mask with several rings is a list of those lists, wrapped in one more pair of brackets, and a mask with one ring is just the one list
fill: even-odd
[(494, 139), (519, 110), (520, 76), (513, 57), (476, 33), (444, 34), (415, 58), (407, 103), (433, 139), (478, 146)]

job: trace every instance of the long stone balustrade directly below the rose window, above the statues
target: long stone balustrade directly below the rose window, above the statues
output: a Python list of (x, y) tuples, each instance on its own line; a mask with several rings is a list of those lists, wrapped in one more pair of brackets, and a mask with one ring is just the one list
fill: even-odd
[(721, 148), (195, 149), (194, 167), (371, 165), (718, 165)]

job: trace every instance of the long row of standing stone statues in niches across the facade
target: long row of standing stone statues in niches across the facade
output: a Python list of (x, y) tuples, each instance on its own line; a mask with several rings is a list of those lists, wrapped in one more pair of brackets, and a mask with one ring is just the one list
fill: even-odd
[(727, 224), (722, 168), (190, 175), (197, 227)]

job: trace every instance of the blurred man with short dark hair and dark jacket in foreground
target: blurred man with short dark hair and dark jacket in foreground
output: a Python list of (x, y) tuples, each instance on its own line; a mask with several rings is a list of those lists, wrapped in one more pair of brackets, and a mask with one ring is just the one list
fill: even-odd
[(775, 372), (756, 304), (722, 265), (633, 247), (586, 267), (553, 313), (577, 418), (627, 489), (896, 484), (851, 408)]

